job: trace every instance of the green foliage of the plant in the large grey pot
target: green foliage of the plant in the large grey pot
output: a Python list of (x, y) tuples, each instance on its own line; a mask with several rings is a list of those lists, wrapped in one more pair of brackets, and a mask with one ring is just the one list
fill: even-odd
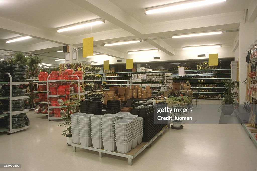
[(222, 82), (224, 83), (225, 91), (223, 93), (224, 99), (222, 99), (221, 104), (234, 104), (237, 91), (232, 92), (232, 90), (239, 88), (239, 81), (228, 80)]

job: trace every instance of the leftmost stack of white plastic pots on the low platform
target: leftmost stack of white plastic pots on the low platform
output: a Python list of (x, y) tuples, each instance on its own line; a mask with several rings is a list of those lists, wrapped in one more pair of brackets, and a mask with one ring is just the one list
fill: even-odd
[(83, 115), (84, 113), (74, 113), (71, 114), (71, 135), (72, 141), (76, 144), (80, 144), (79, 139), (79, 116)]

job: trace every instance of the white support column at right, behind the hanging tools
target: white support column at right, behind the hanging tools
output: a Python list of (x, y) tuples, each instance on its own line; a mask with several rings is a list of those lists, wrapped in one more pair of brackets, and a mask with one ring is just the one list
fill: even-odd
[(239, 112), (245, 113), (243, 104), (245, 102), (246, 84), (242, 83), (247, 78), (246, 66), (246, 51), (249, 50), (250, 45), (255, 41), (254, 23), (246, 22), (240, 23), (239, 27)]

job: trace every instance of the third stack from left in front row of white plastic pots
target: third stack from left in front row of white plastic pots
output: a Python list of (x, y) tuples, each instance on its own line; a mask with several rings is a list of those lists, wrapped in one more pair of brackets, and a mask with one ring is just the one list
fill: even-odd
[(91, 116), (91, 139), (94, 148), (103, 148), (102, 115)]

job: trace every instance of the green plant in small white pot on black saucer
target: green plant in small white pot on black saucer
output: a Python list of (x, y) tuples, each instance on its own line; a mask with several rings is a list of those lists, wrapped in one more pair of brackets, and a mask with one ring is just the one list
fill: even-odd
[[(187, 108), (188, 105), (190, 104), (190, 97), (189, 96), (179, 96), (179, 97), (171, 96), (171, 97), (169, 97), (167, 104), (170, 104), (170, 106), (173, 108), (180, 108), (180, 109)], [(174, 117), (175, 120), (172, 121), (172, 124), (173, 124), (174, 128), (181, 127), (182, 121), (180, 121), (179, 118), (182, 116), (185, 116), (185, 115), (186, 114), (184, 114), (183, 112), (181, 112), (179, 110), (173, 112), (172, 117)]]

